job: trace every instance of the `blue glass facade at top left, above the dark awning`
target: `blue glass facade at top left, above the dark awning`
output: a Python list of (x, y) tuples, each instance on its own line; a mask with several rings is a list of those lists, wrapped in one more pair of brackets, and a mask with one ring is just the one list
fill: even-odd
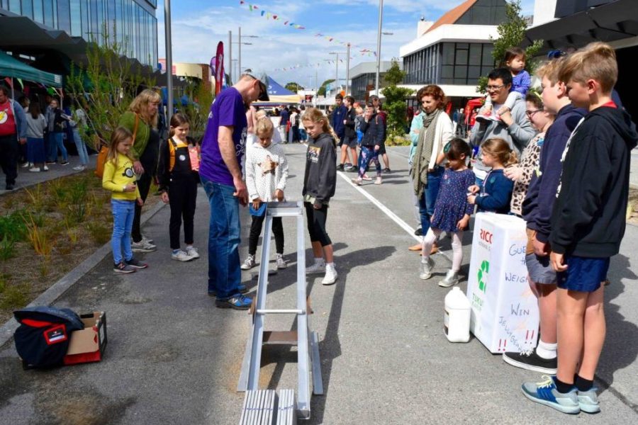
[(157, 68), (157, 0), (0, 0), (0, 16), (26, 16), (45, 30), (103, 45), (105, 35), (125, 56)]

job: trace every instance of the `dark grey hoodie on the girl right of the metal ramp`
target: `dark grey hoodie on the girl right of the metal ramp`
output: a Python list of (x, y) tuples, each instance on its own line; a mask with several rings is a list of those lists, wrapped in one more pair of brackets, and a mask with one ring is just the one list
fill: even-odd
[(335, 141), (328, 133), (317, 139), (308, 137), (306, 173), (303, 176), (303, 196), (316, 198), (315, 204), (323, 206), (335, 195), (337, 188), (337, 152)]

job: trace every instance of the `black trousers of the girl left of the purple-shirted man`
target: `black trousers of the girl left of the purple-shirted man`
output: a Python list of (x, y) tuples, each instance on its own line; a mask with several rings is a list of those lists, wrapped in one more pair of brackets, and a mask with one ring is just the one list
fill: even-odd
[(169, 184), (169, 205), (171, 206), (171, 220), (169, 235), (171, 249), (179, 249), (179, 228), (184, 218), (184, 243), (193, 244), (193, 221), (195, 217), (195, 203), (197, 200), (197, 181), (194, 176), (173, 179)]

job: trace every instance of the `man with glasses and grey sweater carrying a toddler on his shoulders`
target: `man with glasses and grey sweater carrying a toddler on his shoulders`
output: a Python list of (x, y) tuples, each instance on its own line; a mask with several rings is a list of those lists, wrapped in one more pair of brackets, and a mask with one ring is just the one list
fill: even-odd
[[(493, 69), (488, 75), (488, 95), (492, 101), (494, 111), (505, 104), (512, 86), (512, 74), (507, 68)], [(469, 142), (472, 146), (481, 146), (485, 140), (500, 138), (508, 142), (508, 145), (520, 156), (522, 149), (532, 140), (536, 132), (532, 128), (532, 123), (525, 116), (525, 101), (517, 99), (511, 111), (501, 115), (502, 122), (491, 121), (481, 123), (478, 120), (471, 130)], [(481, 161), (481, 150), (479, 149), (474, 163), (474, 174), (476, 184), (482, 186), (483, 179), (490, 171), (490, 167)]]

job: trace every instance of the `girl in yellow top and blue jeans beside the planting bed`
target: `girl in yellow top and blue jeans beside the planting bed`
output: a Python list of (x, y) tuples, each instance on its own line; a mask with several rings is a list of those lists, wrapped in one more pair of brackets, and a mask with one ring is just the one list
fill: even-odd
[(130, 248), (135, 202), (140, 206), (144, 203), (135, 184), (131, 146), (133, 146), (133, 135), (130, 131), (123, 127), (116, 128), (108, 145), (102, 176), (102, 187), (112, 192), (111, 249), (113, 249), (113, 271), (116, 273), (133, 273), (135, 269), (148, 267), (147, 264), (133, 258), (133, 251)]

